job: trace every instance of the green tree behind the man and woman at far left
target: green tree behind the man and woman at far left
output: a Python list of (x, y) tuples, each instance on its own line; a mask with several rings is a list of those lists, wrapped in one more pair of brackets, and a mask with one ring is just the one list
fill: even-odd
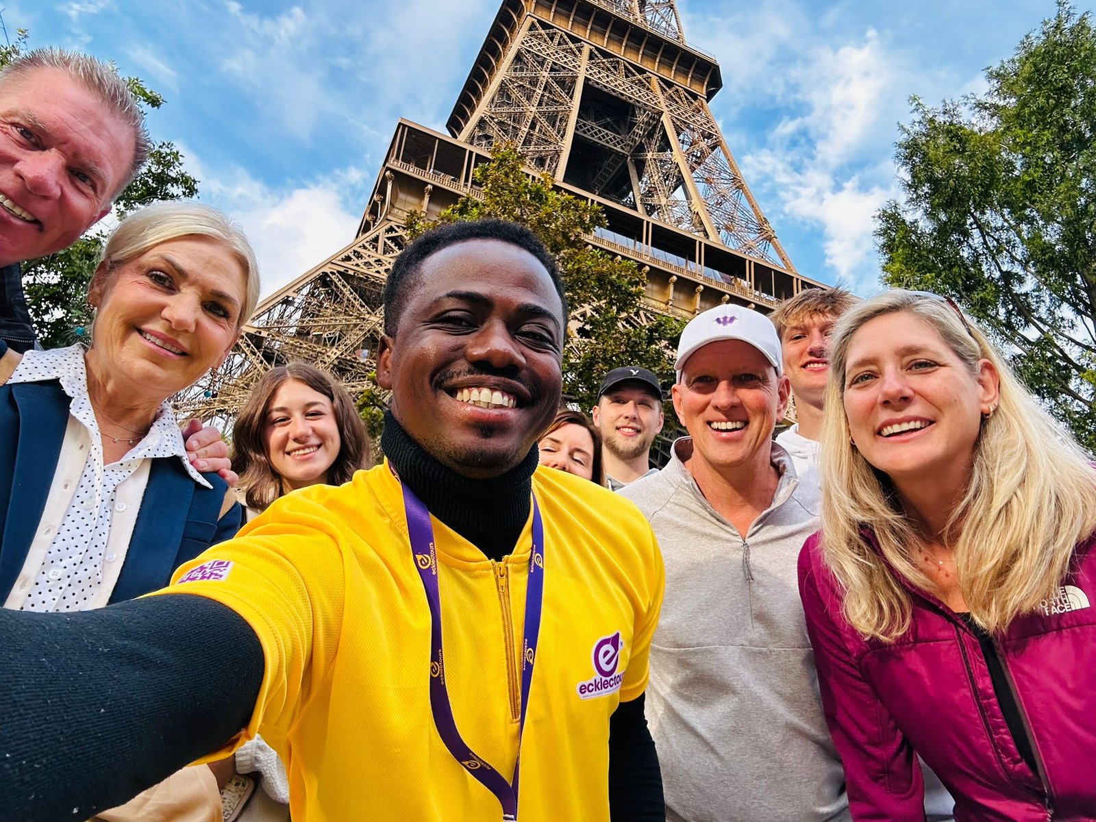
[[(20, 28), (15, 42), (0, 46), (0, 67), (26, 50), (27, 31)], [(136, 78), (126, 82), (145, 111), (163, 105), (163, 96)], [(183, 156), (171, 142), (157, 142), (140, 173), (117, 196), (114, 216), (122, 219), (135, 208), (157, 199), (194, 197), (198, 181), (183, 169)], [(87, 326), (88, 283), (106, 239), (106, 230), (92, 228), (64, 251), (23, 263), (23, 286), (35, 331), (46, 349), (71, 345), (76, 329)]]

